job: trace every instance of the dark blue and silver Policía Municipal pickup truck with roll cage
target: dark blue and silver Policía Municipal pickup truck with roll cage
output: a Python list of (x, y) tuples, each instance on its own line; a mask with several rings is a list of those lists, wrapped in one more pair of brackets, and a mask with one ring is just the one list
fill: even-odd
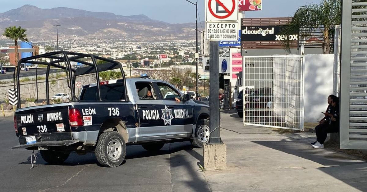
[[(56, 59), (65, 65), (34, 61), (39, 58)], [(92, 62), (80, 58), (91, 58)], [(105, 64), (97, 65), (96, 60)], [(73, 69), (70, 61), (82, 62), (87, 67)], [(64, 51), (21, 59), (14, 73), (18, 95), (21, 95), (20, 63), (59, 67), (67, 74), (70, 101), (50, 104), (47, 98), (47, 105), (27, 108), (18, 103), (14, 116), (19, 145), (13, 148), (40, 150), (42, 158), (50, 164), (64, 162), (71, 151), (78, 154), (94, 151), (102, 166), (116, 167), (125, 158), (126, 145), (138, 144), (156, 151), (165, 143), (190, 141), (195, 147), (203, 147), (209, 137), (207, 105), (161, 80), (126, 79), (116, 61)], [(123, 78), (100, 82), (99, 72), (106, 69), (120, 69)], [(83, 86), (76, 96), (75, 79), (85, 74), (95, 74), (97, 82)]]

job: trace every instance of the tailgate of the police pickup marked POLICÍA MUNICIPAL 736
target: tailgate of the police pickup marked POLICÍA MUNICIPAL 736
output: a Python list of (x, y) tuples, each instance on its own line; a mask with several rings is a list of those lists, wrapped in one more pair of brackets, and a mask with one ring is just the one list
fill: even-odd
[(21, 145), (72, 140), (68, 103), (17, 109), (15, 117)]

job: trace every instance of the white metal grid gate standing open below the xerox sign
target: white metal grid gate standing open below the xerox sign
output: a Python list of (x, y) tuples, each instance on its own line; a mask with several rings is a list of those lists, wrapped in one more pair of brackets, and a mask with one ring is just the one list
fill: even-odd
[(304, 57), (245, 56), (244, 125), (304, 128)]

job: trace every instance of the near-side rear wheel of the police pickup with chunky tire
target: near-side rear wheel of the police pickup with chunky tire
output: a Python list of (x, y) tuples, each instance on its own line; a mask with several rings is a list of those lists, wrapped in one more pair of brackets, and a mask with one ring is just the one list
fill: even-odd
[[(120, 153), (113, 159), (108, 154), (108, 145), (110, 142), (115, 142), (121, 146), (118, 150)], [(117, 143), (119, 142), (119, 143)], [(117, 151), (117, 150), (116, 150)], [(115, 131), (104, 132), (99, 136), (97, 147), (95, 148), (95, 157), (97, 161), (105, 167), (117, 167), (124, 161), (126, 155), (126, 144), (120, 133)]]

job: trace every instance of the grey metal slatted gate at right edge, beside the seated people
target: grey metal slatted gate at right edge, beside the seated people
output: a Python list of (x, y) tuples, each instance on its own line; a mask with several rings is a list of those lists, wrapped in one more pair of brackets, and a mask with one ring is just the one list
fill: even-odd
[(343, 1), (340, 148), (367, 148), (367, 3)]

